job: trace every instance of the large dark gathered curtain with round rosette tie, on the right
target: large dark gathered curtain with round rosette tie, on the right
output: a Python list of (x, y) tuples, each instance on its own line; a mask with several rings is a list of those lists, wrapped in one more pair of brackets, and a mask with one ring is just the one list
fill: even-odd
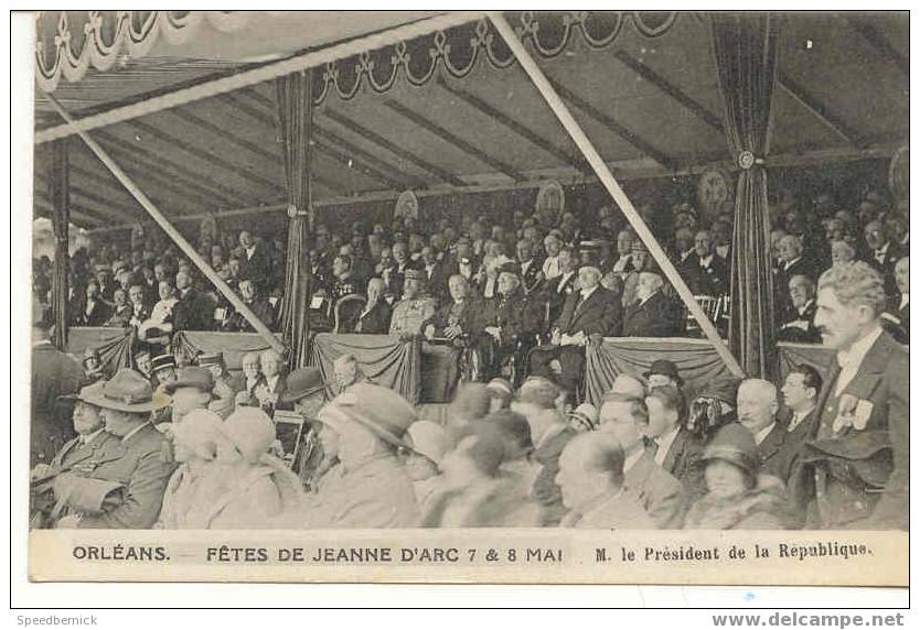
[(779, 19), (744, 13), (712, 20), (725, 134), (741, 167), (731, 240), (729, 345), (748, 376), (769, 378), (775, 365), (775, 319), (763, 159), (770, 150)]

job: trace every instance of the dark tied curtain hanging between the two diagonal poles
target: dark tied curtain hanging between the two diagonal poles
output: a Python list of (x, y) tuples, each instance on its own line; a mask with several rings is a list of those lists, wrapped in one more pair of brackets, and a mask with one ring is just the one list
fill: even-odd
[(312, 230), (310, 162), (313, 134), (313, 96), (310, 70), (277, 79), (278, 131), (285, 154), (288, 185), (288, 247), (285, 293), (281, 305), (281, 330), (290, 349), (291, 369), (309, 360), (310, 261), (307, 239)]

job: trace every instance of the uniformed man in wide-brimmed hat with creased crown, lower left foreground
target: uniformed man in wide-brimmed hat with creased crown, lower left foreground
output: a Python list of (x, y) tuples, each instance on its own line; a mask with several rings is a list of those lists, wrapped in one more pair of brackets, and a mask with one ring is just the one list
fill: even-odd
[(139, 373), (122, 368), (108, 381), (85, 388), (79, 400), (99, 408), (105, 430), (116, 437), (85, 466), (54, 478), (58, 528), (148, 529), (157, 521), (175, 465), (162, 458), (167, 438), (150, 423), (170, 403)]

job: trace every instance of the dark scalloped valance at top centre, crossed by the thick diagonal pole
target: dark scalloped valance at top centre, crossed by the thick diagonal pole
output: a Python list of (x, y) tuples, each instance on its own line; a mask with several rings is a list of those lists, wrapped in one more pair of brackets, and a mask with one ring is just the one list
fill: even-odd
[[(591, 48), (606, 48), (627, 23), (645, 37), (659, 37), (674, 26), (678, 14), (676, 11), (525, 11), (506, 17), (525, 45), (541, 57), (552, 58), (560, 55), (579, 33)], [(495, 68), (516, 63), (488, 19), (327, 64), (323, 72), (314, 74), (314, 102), (321, 104), (333, 93), (342, 100), (350, 100), (361, 91), (362, 85), (382, 94), (393, 88), (400, 75), (410, 85), (422, 86), (439, 67), (454, 78), (463, 78), (481, 57)]]

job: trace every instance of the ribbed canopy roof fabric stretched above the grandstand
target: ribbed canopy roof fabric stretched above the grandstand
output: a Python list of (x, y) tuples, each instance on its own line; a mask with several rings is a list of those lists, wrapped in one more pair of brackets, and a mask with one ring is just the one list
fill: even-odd
[[(280, 37), (284, 44), (275, 54), (290, 55), (427, 17), (351, 15), (263, 19), (328, 25), (318, 30), (324, 36), (311, 41)], [(705, 15), (515, 13), (509, 19), (619, 176), (666, 175), (726, 162)], [(235, 42), (245, 40), (243, 31), (222, 34), (213, 24), (200, 19), (201, 32), (211, 29), (213, 41), (226, 37), (232, 42), (226, 50), (236, 55), (221, 53), (212, 41), (206, 54), (194, 53), (202, 56), (176, 56), (161, 42), (147, 51), (149, 56), (87, 69), (73, 83), (58, 77), (54, 96), (81, 118), (252, 67), (265, 61), (253, 55), (269, 54)], [(906, 143), (908, 48), (906, 14), (785, 18), (772, 155), (890, 155)], [(317, 68), (313, 78), (318, 204), (395, 199), (404, 189), (520, 187), (589, 177), (571, 141), (486, 21), (368, 51)], [(36, 110), (39, 129), (60, 124), (42, 116), (40, 96)], [(286, 203), (275, 111), (271, 85), (260, 84), (90, 134), (165, 215), (220, 216)], [(49, 207), (49, 148), (38, 145), (40, 211)], [(71, 163), (73, 222), (95, 228), (145, 220), (140, 206), (82, 144), (74, 143)]]

